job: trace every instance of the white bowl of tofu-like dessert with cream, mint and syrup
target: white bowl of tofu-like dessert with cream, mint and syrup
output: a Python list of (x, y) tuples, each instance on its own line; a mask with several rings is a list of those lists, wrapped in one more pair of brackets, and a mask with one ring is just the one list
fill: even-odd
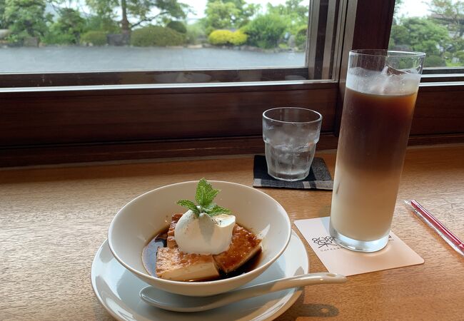
[[(214, 189), (221, 190), (213, 193), (216, 194), (214, 203), (218, 205), (205, 203), (201, 209), (187, 200), (198, 200), (198, 186), (202, 181), (166, 185), (138, 196), (121, 208), (111, 222), (108, 235), (109, 248), (116, 260), (149, 285), (181, 295), (216, 295), (241, 287), (261, 275), (283, 253), (290, 240), (291, 225), (286, 210), (266, 193), (222, 181), (211, 181)], [(218, 226), (212, 227), (210, 221)], [(198, 231), (203, 235), (198, 236)], [(169, 246), (158, 248), (155, 260), (161, 263), (167, 260), (169, 264), (143, 262), (147, 259), (142, 260), (147, 245), (163, 233), (168, 234)], [(245, 243), (235, 243), (243, 235), (247, 238), (242, 239)], [(231, 267), (228, 256), (234, 255), (233, 248), (247, 247), (247, 259), (253, 261), (249, 270), (228, 271)], [(178, 267), (169, 260), (198, 264), (190, 269)], [(148, 265), (158, 270), (150, 271), (146, 268)]]

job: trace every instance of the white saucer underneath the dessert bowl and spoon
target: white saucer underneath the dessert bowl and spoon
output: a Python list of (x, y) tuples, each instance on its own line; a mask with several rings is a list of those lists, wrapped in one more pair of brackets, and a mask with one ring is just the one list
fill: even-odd
[[(285, 252), (268, 270), (248, 285), (308, 273), (306, 248), (292, 231)], [(113, 257), (106, 240), (97, 251), (91, 270), (92, 287), (106, 310), (118, 320), (273, 320), (298, 299), (303, 290), (289, 289), (204, 312), (170, 312), (146, 304), (138, 293), (147, 284), (126, 270)], [(159, 290), (161, 292), (161, 290)]]

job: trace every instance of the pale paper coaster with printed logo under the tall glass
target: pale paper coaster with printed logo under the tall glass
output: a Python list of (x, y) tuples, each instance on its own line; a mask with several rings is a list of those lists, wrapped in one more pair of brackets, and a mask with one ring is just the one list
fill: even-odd
[(295, 221), (328, 272), (348, 276), (424, 263), (423, 258), (391, 231), (387, 245), (378, 252), (361, 253), (342, 248), (328, 233), (329, 220), (326, 217)]

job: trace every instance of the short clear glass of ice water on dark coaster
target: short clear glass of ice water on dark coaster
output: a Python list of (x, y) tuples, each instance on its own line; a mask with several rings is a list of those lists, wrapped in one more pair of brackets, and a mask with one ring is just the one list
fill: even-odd
[(311, 109), (281, 107), (263, 113), (268, 174), (278, 180), (302, 180), (309, 174), (322, 115)]

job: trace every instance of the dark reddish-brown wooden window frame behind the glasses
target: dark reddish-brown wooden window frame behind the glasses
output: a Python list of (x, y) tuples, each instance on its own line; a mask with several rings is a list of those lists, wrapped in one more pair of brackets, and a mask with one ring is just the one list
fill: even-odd
[[(348, 51), (388, 47), (394, 4), (339, 1), (338, 61), (345, 62), (334, 63), (339, 81), (0, 91), (0, 166), (263, 153), (261, 113), (285, 105), (321, 111), (318, 148), (336, 148)], [(64, 77), (72, 82), (72, 75)], [(421, 83), (411, 144), (464, 141), (464, 83), (455, 77)]]

